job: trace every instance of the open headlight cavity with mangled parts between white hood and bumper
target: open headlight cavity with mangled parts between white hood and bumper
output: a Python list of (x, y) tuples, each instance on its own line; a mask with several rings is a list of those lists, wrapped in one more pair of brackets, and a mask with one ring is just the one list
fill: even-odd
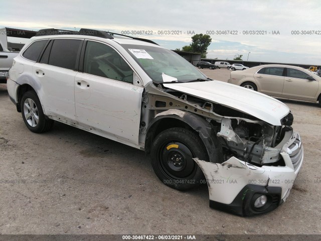
[(282, 165), (280, 142), (285, 131), (291, 130), (293, 115), (289, 113), (282, 126), (271, 126), (263, 122), (250, 123), (240, 119), (222, 118), (217, 133), (223, 146), (224, 161), (232, 156), (258, 165)]

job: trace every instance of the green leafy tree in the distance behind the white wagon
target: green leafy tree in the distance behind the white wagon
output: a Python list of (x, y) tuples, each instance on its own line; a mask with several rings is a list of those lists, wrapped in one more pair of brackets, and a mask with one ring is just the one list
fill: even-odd
[(182, 51), (200, 53), (201, 58), (206, 58), (206, 51), (211, 42), (211, 36), (207, 34), (196, 34), (192, 37), (192, 43), (183, 46)]

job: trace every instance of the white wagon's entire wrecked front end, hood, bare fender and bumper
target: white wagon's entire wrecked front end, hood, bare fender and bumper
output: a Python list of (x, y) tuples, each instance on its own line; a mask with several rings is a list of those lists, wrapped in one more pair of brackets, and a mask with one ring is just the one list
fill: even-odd
[[(153, 118), (146, 121), (147, 133), (160, 118), (175, 115), (199, 133), (209, 161), (193, 160), (206, 177), (211, 207), (249, 216), (286, 200), (302, 165), (303, 147), (285, 104), (220, 81), (151, 85), (146, 90), (144, 108)], [(192, 116), (198, 118), (188, 121)]]

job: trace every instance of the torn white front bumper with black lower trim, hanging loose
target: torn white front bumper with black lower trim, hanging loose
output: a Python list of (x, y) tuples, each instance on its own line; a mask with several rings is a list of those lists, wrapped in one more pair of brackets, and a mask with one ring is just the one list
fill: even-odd
[[(303, 146), (297, 133), (293, 133), (280, 155), (285, 166), (258, 167), (235, 157), (222, 164), (194, 159), (206, 177), (210, 207), (241, 216), (278, 207), (288, 197), (303, 162)], [(256, 208), (254, 202), (260, 195), (266, 195), (267, 202)]]

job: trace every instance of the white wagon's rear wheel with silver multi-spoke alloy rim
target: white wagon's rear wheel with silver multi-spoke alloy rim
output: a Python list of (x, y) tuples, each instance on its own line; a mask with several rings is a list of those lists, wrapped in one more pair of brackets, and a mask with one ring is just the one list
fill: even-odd
[(22, 96), (21, 114), (27, 128), (34, 133), (47, 132), (54, 126), (54, 121), (44, 114), (35, 91), (27, 91)]

